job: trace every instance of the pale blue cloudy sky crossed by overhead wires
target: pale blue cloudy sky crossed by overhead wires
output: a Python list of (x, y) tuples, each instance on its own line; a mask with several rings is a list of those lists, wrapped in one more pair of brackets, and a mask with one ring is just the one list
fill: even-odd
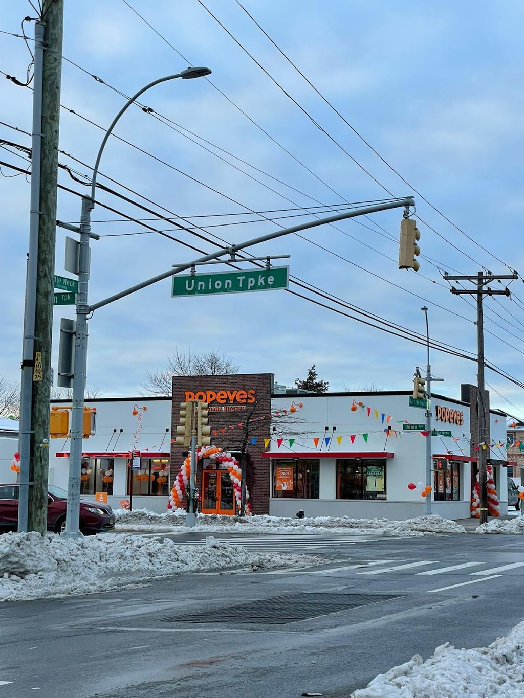
[[(34, 9), (26, 0), (3, 5), (0, 29), (21, 34)], [(289, 264), (309, 290), (291, 283), (291, 292), (172, 298), (166, 280), (105, 306), (89, 319), (87, 385), (106, 396), (136, 395), (147, 371), (163, 369), (177, 348), (231, 355), (240, 371), (275, 373), (284, 385), (316, 364), (333, 391), (411, 389), (415, 366), (425, 369), (425, 347), (376, 326), (387, 321), (424, 337), (421, 307), (428, 306), (431, 339), (470, 357), (431, 352), (433, 374), (445, 379), (438, 392), (460, 397), (461, 383), (476, 383), (476, 305), (452, 295), (442, 274), (524, 274), (523, 20), (517, 0), (332, 0), (327, 7), (313, 0), (66, 0), (59, 161), (75, 177), (87, 181), (103, 133), (124, 104), (120, 93), (189, 65), (212, 70), (209, 78), (153, 87), (140, 103), (154, 114), (133, 106), (117, 124), (115, 135), (127, 142), (110, 138), (99, 181), (120, 196), (97, 192), (93, 230), (102, 237), (92, 241), (89, 302), (348, 204), (414, 195), (421, 231), (419, 272), (398, 269), (402, 209), (393, 209), (249, 248), (256, 256), (291, 255), (275, 265)], [(34, 36), (34, 22), (24, 27)], [(0, 34), (3, 73), (24, 80), (30, 60), (22, 38)], [(0, 77), (0, 138), (29, 147), (29, 135), (10, 127), (31, 132), (32, 93)], [(2, 147), (0, 160), (29, 165), (13, 147)], [(59, 183), (87, 191), (66, 170)], [(14, 382), (26, 177), (0, 177), (0, 200), (0, 375)], [(75, 223), (79, 215), (80, 198), (59, 191), (57, 218)], [(144, 222), (174, 239), (124, 216), (157, 218)], [(201, 237), (161, 216), (181, 216)], [(137, 232), (146, 234), (129, 235)], [(57, 229), (55, 273), (71, 276), (65, 237)], [(484, 302), (486, 361), (518, 381), (522, 283), (511, 284), (511, 297)], [(336, 311), (370, 313), (371, 326)], [(55, 371), (60, 318), (73, 313), (74, 306), (54, 309)], [(524, 417), (521, 387), (490, 370), (486, 382), (492, 406)]]

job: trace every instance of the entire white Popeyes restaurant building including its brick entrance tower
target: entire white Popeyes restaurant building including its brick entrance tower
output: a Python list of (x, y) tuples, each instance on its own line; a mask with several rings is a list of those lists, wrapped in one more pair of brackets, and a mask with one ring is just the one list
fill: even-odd
[[(83, 443), (82, 495), (101, 493), (113, 507), (132, 497), (133, 509), (166, 511), (187, 452), (171, 435), (180, 403), (196, 397), (209, 403), (213, 445), (239, 461), (244, 457), (256, 514), (295, 517), (300, 509), (308, 517), (407, 519), (423, 514), (424, 500), (408, 484), (425, 482), (425, 445), (431, 438), (432, 510), (450, 519), (469, 517), (479, 448), (476, 407), (470, 408), (477, 403), (476, 388), (463, 386), (461, 400), (432, 396), (432, 425), (444, 434), (431, 437), (421, 433), (425, 410), (410, 407), (409, 396), (405, 391), (299, 393), (275, 389), (270, 373), (251, 373), (177, 376), (173, 400), (89, 400), (86, 405), (96, 408), (96, 435)], [(488, 400), (486, 393), (489, 409)], [(502, 513), (507, 512), (508, 466), (516, 461), (505, 449), (506, 417), (489, 410), (488, 462)], [(8, 441), (2, 477), (10, 482), (14, 444)], [(50, 440), (50, 483), (64, 489), (69, 443), (68, 438)], [(133, 448), (140, 452), (136, 471), (130, 468)], [(200, 461), (197, 486), (203, 512), (235, 512), (225, 463)]]

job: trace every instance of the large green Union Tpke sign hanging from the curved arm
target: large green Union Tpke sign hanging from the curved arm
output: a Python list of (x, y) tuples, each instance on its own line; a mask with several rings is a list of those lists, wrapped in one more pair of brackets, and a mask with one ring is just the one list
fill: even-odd
[(289, 267), (272, 267), (238, 272), (210, 272), (209, 274), (184, 274), (173, 276), (175, 296), (209, 296), (221, 293), (243, 293), (246, 291), (272, 291), (287, 288)]

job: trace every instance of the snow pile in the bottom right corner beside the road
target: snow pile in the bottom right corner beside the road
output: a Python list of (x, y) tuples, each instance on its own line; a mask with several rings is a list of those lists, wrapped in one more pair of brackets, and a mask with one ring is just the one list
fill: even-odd
[(524, 623), (489, 647), (437, 647), (373, 679), (351, 698), (516, 698), (524, 695)]

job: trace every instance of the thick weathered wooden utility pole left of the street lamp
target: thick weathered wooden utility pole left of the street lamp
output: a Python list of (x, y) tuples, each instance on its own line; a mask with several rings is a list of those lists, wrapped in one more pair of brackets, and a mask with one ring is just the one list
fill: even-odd
[[(48, 519), (49, 403), (57, 220), (58, 135), (64, 0), (43, 0), (41, 167), (38, 207), (31, 443), (27, 528), (45, 535)], [(35, 95), (35, 98), (40, 96)], [(30, 262), (31, 266), (31, 262)], [(28, 306), (33, 301), (28, 297)], [(25, 366), (23, 366), (25, 368)]]

